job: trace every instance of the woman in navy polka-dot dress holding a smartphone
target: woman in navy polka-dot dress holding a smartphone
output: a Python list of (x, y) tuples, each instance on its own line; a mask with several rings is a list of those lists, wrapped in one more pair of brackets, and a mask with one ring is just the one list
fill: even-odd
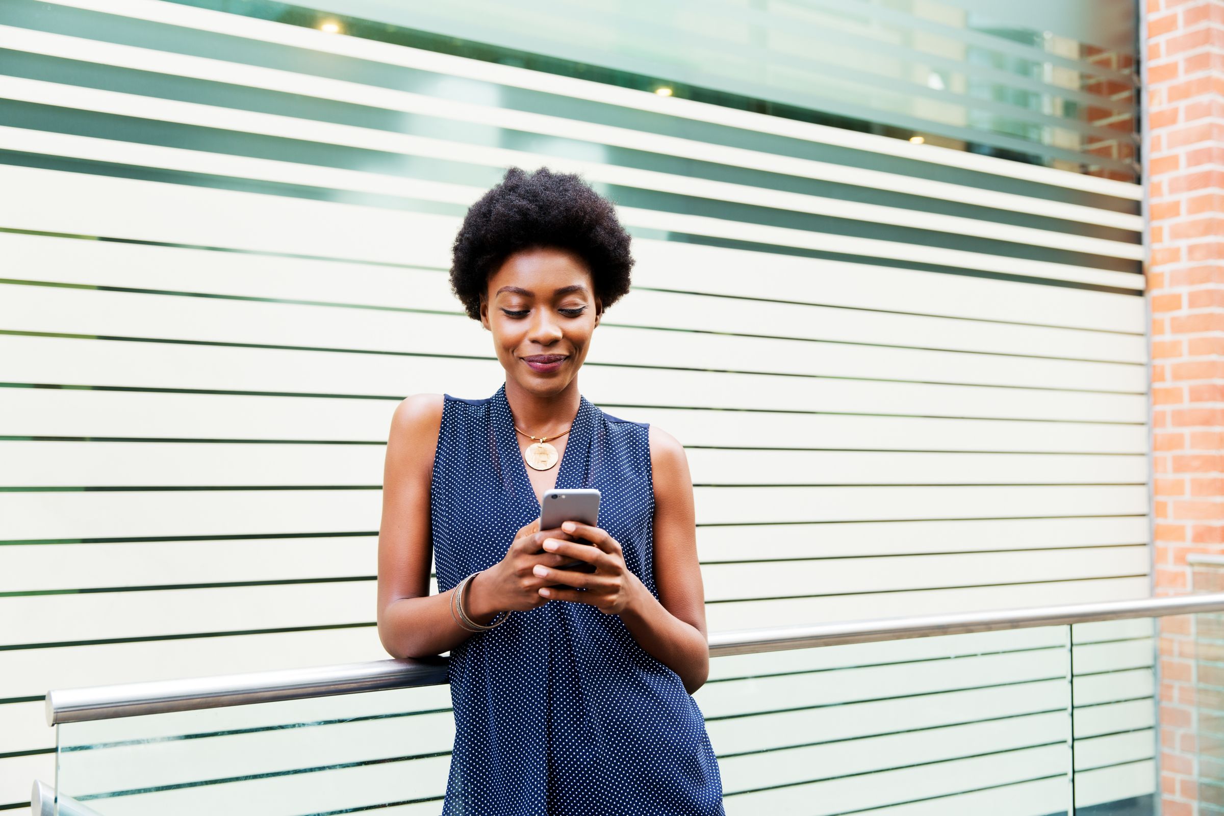
[[(690, 696), (709, 645), (684, 449), (578, 390), (632, 265), (578, 176), (512, 168), (468, 212), (450, 269), (506, 383), (416, 394), (392, 420), (378, 634), (394, 657), (450, 652), (443, 816), (725, 812)], [(553, 487), (599, 488), (600, 526), (537, 530)], [(579, 562), (594, 571), (564, 569)]]

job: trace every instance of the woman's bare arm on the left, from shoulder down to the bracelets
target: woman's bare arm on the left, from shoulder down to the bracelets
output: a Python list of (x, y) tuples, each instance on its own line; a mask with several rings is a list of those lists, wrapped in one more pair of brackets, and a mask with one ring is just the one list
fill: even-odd
[[(377, 620), (378, 639), (392, 657), (441, 655), (472, 635), (450, 615), (454, 590), (430, 595), (430, 484), (442, 405), (441, 394), (404, 399), (387, 438)], [(472, 579), (469, 592), (477, 580)]]

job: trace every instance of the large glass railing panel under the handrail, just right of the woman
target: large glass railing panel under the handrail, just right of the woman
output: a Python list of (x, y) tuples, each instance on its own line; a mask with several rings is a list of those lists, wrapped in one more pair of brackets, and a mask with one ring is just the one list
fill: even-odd
[(711, 661), (727, 814), (1066, 812), (1066, 626)]

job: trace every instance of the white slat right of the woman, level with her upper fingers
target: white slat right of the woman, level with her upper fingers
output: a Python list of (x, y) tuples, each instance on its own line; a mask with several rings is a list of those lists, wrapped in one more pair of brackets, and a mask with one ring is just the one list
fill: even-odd
[(1002, 519), (698, 529), (706, 563), (1142, 544), (1147, 519)]

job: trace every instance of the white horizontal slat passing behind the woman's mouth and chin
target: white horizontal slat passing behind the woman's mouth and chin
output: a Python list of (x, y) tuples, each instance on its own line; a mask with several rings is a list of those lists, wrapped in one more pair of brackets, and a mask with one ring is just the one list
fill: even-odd
[[(403, 396), (490, 395), (504, 379), (494, 360), (441, 360), (327, 351), (0, 335), (10, 382)], [(670, 406), (1071, 420), (1142, 423), (1142, 394), (854, 382), (588, 366), (596, 404), (640, 399)], [(326, 383), (321, 388), (321, 383)]]

